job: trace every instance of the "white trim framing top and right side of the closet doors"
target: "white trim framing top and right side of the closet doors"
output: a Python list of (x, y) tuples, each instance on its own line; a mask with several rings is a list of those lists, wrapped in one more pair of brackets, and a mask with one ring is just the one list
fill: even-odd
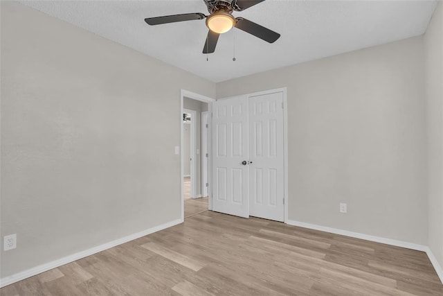
[[(229, 98), (247, 96), (261, 96), (264, 94), (273, 94), (275, 92), (282, 92), (283, 94), (283, 138), (284, 138), (284, 223), (288, 223), (288, 108), (287, 108), (287, 87), (281, 87), (278, 89), (269, 89), (262, 92), (253, 92), (250, 94), (242, 94), (239, 96), (230, 96)], [(217, 99), (218, 101), (219, 99)], [(210, 202), (212, 202), (213, 196), (210, 195)]]

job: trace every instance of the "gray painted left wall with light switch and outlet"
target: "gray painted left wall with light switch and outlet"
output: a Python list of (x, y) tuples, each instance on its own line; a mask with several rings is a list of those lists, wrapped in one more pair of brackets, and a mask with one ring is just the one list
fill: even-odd
[[(1, 277), (181, 217), (180, 91), (215, 84), (1, 1)], [(152, 127), (161, 128), (152, 128)]]

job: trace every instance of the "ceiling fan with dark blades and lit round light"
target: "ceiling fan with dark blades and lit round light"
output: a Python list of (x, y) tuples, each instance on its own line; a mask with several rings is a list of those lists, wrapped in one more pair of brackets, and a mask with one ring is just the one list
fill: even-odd
[(213, 53), (217, 40), (221, 33), (228, 32), (231, 28), (239, 28), (246, 33), (259, 37), (260, 39), (273, 43), (280, 37), (279, 33), (264, 28), (253, 21), (244, 19), (243, 17), (233, 17), (233, 11), (242, 11), (251, 6), (263, 2), (264, 0), (203, 0), (210, 15), (203, 13), (184, 13), (181, 15), (166, 15), (164, 17), (148, 17), (146, 23), (154, 26), (160, 24), (174, 23), (176, 21), (192, 21), (195, 19), (205, 19), (208, 26), (208, 37), (204, 45), (203, 53)]

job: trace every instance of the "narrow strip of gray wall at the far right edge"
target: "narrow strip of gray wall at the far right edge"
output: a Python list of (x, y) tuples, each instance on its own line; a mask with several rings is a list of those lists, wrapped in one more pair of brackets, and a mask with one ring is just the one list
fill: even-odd
[(428, 236), (443, 267), (443, 3), (424, 35), (428, 120)]

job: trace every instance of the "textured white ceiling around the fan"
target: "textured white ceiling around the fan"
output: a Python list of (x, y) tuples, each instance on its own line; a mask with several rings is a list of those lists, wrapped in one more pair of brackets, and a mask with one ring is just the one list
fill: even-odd
[(437, 6), (437, 1), (267, 0), (233, 15), (282, 37), (269, 44), (234, 29), (220, 35), (206, 61), (204, 20), (159, 26), (144, 21), (188, 12), (208, 15), (202, 0), (21, 2), (214, 82), (421, 35)]

